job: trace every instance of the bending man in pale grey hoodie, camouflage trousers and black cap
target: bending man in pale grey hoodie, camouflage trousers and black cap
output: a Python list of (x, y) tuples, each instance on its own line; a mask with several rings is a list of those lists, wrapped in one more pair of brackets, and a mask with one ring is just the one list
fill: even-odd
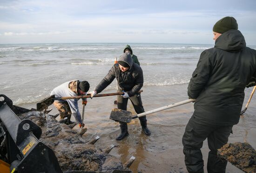
[[(51, 92), (51, 95), (55, 95), (55, 97), (69, 97), (69, 96), (78, 96), (78, 95), (86, 95), (90, 88), (88, 81), (79, 81), (72, 80), (61, 84), (58, 87), (55, 87)], [(78, 109), (78, 100), (79, 99), (67, 99), (67, 100), (55, 100), (54, 106), (60, 112), (61, 120), (67, 125), (72, 124), (74, 122), (70, 121), (71, 114), (73, 114), (76, 122), (79, 127), (83, 127), (84, 123), (81, 119), (81, 114)], [(87, 99), (82, 98), (82, 104), (87, 104)], [(67, 120), (65, 120), (67, 117)], [(61, 121), (62, 122), (62, 121)]]

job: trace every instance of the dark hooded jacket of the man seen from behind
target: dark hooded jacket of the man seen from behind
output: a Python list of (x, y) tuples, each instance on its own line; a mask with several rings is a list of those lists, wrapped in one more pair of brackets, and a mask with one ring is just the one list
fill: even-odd
[(204, 124), (237, 124), (244, 88), (252, 76), (256, 76), (256, 50), (246, 47), (239, 30), (223, 33), (214, 48), (201, 53), (190, 79), (188, 95), (196, 99), (194, 117)]

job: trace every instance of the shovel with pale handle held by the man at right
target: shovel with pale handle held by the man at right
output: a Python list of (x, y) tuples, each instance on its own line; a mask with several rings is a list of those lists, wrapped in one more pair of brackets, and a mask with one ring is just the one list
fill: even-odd
[(151, 113), (156, 113), (156, 112), (159, 112), (159, 111), (163, 111), (165, 109), (169, 109), (169, 108), (172, 108), (172, 107), (184, 105), (184, 104), (187, 104), (187, 103), (190, 103), (190, 102), (193, 102), (193, 101), (195, 101), (195, 99), (188, 99), (188, 100), (184, 100), (184, 101), (174, 103), (172, 105), (163, 106), (163, 107), (160, 107), (160, 108), (157, 108), (157, 109), (154, 109), (154, 110), (151, 110), (151, 111), (147, 111), (147, 112), (144, 112), (144, 113), (139, 113), (137, 115), (132, 115), (132, 113), (130, 111), (124, 111), (124, 110), (121, 110), (121, 109), (114, 108), (110, 113), (109, 119), (119, 121), (119, 122), (129, 123), (129, 122), (131, 122), (132, 119), (139, 118), (139, 117), (151, 114)]

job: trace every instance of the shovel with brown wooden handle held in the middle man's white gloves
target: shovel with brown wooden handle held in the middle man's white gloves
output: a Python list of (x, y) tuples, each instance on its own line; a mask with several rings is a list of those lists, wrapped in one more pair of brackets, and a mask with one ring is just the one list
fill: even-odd
[[(140, 90), (138, 93), (143, 92)], [(105, 96), (113, 96), (113, 95), (121, 95), (123, 92), (118, 93), (106, 93), (106, 94), (96, 94), (94, 97), (105, 97)], [(48, 108), (48, 106), (54, 103), (54, 100), (67, 100), (67, 99), (81, 99), (81, 98), (90, 98), (91, 95), (80, 95), (80, 96), (71, 96), (71, 97), (55, 97), (55, 95), (51, 95), (44, 100), (41, 100), (39, 103), (36, 104), (36, 110), (42, 111)]]

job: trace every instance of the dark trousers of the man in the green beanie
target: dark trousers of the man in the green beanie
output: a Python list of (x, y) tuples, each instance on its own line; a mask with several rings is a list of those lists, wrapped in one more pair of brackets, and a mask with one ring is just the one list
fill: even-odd
[(182, 138), (185, 164), (189, 173), (203, 173), (201, 148), (207, 138), (210, 152), (208, 154), (208, 173), (225, 173), (227, 161), (217, 157), (217, 149), (227, 144), (233, 126), (209, 126), (198, 122), (193, 115)]

